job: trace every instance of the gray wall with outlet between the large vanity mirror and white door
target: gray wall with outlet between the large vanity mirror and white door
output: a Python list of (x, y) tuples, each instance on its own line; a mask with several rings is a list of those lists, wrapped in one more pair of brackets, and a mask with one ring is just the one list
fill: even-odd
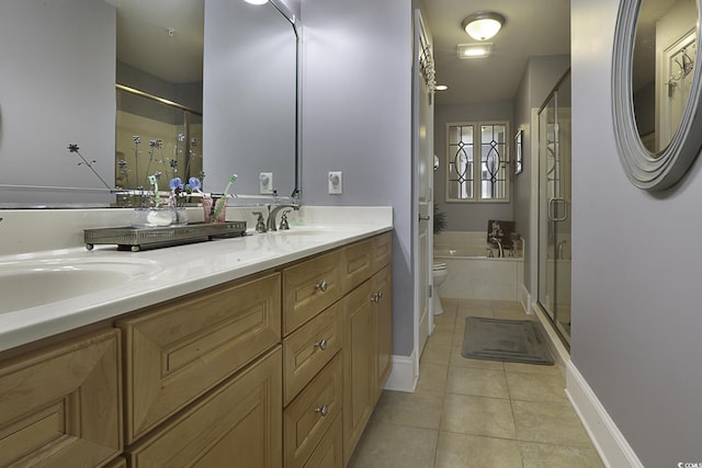
[[(411, 8), (406, 0), (305, 0), (303, 198), (393, 206), (394, 354), (414, 349)], [(328, 194), (328, 172), (343, 194)]]

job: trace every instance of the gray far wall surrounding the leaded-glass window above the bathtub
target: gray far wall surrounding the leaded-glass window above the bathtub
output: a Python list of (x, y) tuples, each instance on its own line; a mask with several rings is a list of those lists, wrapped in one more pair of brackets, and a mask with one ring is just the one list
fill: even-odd
[(478, 104), (438, 104), (434, 111), (434, 151), (440, 167), (434, 172), (434, 199), (439, 210), (446, 214), (446, 230), (487, 231), (488, 219), (513, 219), (514, 197), (509, 203), (446, 202), (446, 124), (474, 121), (509, 122), (510, 151), (512, 136), (512, 101)]

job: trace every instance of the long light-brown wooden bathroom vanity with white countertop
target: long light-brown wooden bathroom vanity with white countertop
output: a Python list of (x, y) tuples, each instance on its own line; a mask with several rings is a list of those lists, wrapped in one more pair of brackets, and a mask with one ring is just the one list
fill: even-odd
[(0, 465), (347, 465), (390, 370), (390, 224), (81, 253), (159, 267), (0, 315)]

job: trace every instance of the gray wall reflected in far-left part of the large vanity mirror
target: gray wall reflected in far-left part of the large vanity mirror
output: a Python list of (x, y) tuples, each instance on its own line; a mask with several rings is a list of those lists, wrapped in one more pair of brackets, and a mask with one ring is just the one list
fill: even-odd
[[(0, 183), (104, 191), (68, 152), (77, 144), (114, 185), (115, 24), (114, 8), (93, 0), (0, 2)], [(0, 191), (0, 203), (83, 195)]]

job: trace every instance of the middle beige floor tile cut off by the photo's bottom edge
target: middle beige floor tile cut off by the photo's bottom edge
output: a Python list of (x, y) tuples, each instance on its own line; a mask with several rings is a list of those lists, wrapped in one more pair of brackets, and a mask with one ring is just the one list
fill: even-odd
[(522, 459), (517, 441), (439, 433), (434, 468), (514, 468)]

